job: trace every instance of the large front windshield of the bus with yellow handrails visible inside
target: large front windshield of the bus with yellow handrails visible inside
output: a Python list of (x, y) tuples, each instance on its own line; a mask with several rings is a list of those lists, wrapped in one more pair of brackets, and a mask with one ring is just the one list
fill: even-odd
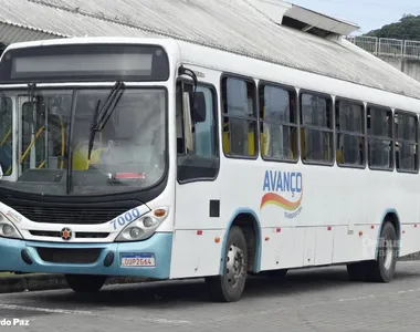
[(166, 90), (118, 92), (111, 107), (109, 87), (1, 92), (0, 187), (62, 196), (156, 185), (166, 169)]

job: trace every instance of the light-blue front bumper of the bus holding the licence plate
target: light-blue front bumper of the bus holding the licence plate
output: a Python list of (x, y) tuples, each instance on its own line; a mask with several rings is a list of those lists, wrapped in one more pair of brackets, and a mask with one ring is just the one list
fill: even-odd
[[(168, 279), (171, 248), (172, 234), (155, 234), (145, 241), (119, 243), (56, 243), (0, 238), (0, 271)], [(123, 266), (123, 261), (129, 266)]]

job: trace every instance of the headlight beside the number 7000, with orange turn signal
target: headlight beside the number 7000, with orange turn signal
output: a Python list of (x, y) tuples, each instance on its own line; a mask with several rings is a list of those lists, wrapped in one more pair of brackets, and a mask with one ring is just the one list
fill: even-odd
[(116, 242), (140, 241), (151, 237), (168, 216), (169, 208), (157, 208), (128, 224), (115, 239)]

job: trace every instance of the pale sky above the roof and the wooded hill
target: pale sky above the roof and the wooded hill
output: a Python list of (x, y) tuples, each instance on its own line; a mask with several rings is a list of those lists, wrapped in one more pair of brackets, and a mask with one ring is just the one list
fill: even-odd
[(314, 11), (350, 21), (360, 27), (353, 34), (367, 33), (398, 22), (403, 14), (420, 14), (420, 0), (286, 0)]

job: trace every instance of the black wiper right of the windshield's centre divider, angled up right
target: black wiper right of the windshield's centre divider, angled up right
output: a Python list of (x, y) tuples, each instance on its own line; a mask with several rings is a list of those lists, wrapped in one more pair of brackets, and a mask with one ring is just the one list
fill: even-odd
[(97, 132), (101, 132), (105, 127), (106, 123), (108, 122), (111, 115), (113, 114), (115, 107), (117, 106), (119, 100), (123, 96), (124, 87), (125, 85), (123, 82), (116, 82), (113, 90), (109, 92), (104, 105), (101, 108), (101, 100), (97, 101), (96, 108), (91, 123), (86, 169), (88, 169), (91, 164), (91, 156), (93, 144), (95, 142), (95, 135)]

